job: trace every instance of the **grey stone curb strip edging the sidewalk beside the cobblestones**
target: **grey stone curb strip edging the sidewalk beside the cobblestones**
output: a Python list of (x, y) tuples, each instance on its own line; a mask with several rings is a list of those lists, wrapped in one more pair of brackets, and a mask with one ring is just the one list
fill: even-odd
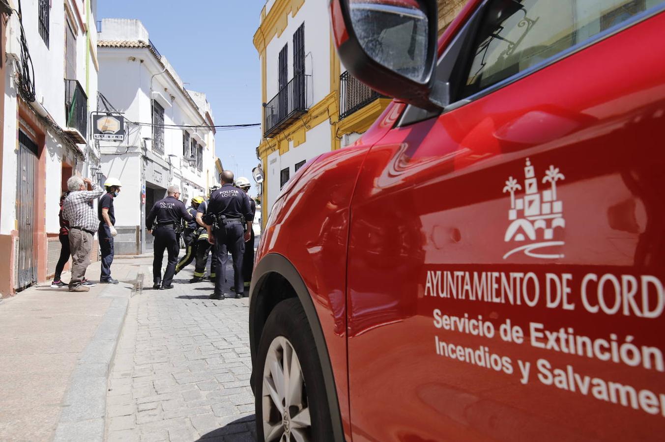
[(122, 283), (109, 285), (98, 295), (114, 299), (78, 358), (63, 399), (54, 442), (104, 440), (110, 364), (127, 314), (131, 289)]

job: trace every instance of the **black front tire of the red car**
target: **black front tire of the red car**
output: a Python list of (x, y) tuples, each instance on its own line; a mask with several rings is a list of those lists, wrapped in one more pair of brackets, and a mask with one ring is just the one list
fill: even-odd
[[(286, 338), (293, 346), (293, 351), (300, 362), (303, 381), (303, 389), (306, 397), (307, 407), (311, 417), (311, 428), (307, 431), (310, 441), (332, 441), (331, 413), (328, 405), (327, 391), (323, 380), (321, 362), (317, 354), (307, 315), (303, 306), (297, 298), (283, 300), (271, 312), (265, 322), (259, 350), (257, 353), (257, 383), (255, 385), (255, 411), (257, 441), (265, 441), (263, 434), (263, 395), (264, 395), (264, 368), (271, 349), (271, 344), (278, 338)], [(273, 409), (274, 422), (278, 417), (277, 409)], [(275, 439), (279, 441), (280, 439)], [(295, 440), (295, 439), (290, 439)]]

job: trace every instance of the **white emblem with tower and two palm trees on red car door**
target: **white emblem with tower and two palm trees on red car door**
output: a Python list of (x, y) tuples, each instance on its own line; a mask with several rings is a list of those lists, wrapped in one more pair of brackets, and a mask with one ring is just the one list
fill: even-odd
[[(517, 179), (508, 177), (503, 193), (510, 193), (510, 209), (508, 219), (511, 221), (505, 231), (504, 241), (517, 245), (503, 255), (506, 259), (514, 253), (523, 252), (532, 258), (557, 259), (563, 258), (561, 253), (553, 253), (553, 247), (564, 245), (564, 241), (554, 241), (557, 227), (564, 229), (563, 202), (557, 198), (557, 181), (565, 179), (558, 167), (549, 166), (543, 177), (543, 184), (550, 183), (550, 188), (538, 191), (538, 179), (531, 161), (527, 158), (524, 167), (524, 195), (517, 197), (515, 193), (522, 190)], [(527, 242), (527, 244), (524, 244)], [(549, 249), (542, 251), (541, 249)]]

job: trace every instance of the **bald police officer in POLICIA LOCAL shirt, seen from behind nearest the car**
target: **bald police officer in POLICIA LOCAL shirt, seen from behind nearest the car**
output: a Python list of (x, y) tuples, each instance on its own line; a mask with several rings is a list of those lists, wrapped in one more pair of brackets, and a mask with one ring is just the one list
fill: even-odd
[[(249, 241), (251, 221), (254, 213), (249, 207), (247, 194), (233, 186), (233, 172), (225, 170), (219, 174), (221, 187), (210, 195), (207, 213), (203, 217), (209, 235), (208, 242), (213, 244), (213, 260), (217, 263), (215, 291), (209, 297), (225, 297), (222, 286), (225, 281), (227, 251), (233, 257), (233, 286), (235, 297), (243, 296), (243, 253), (245, 241)], [(211, 219), (215, 217), (215, 222)], [(214, 224), (214, 227), (212, 225)], [(214, 262), (213, 261), (213, 262)]]

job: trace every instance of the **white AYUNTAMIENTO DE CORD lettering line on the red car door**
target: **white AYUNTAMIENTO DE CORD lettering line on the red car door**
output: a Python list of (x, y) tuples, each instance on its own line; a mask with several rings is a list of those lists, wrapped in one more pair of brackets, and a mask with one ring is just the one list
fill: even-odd
[[(545, 273), (541, 280), (535, 273), (428, 271), (425, 296), (575, 310), (574, 284), (570, 273)], [(656, 276), (587, 273), (577, 284), (589, 313), (657, 318), (665, 308)]]

